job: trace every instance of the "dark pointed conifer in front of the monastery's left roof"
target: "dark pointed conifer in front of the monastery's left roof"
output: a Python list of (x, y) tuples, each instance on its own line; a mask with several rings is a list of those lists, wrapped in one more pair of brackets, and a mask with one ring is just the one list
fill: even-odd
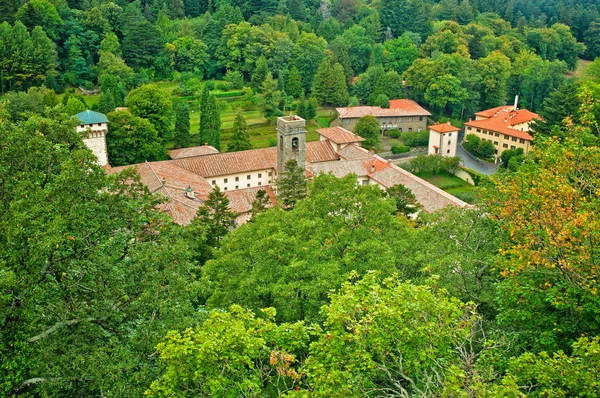
[(198, 209), (197, 221), (207, 227), (207, 244), (217, 247), (219, 242), (233, 225), (235, 214), (229, 209), (229, 199), (221, 192), (218, 186), (208, 194), (202, 207)]

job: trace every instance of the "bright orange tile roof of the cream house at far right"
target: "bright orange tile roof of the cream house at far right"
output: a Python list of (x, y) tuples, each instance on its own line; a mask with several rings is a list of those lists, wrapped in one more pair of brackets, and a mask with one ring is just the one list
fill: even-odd
[(531, 141), (533, 139), (528, 132), (513, 129), (511, 126), (530, 122), (533, 119), (541, 119), (537, 113), (533, 113), (527, 109), (518, 109), (515, 111), (512, 106), (501, 106), (498, 108), (488, 109), (486, 111), (478, 112), (476, 115), (487, 117), (487, 119), (472, 120), (466, 122), (465, 126), (502, 133), (527, 141)]

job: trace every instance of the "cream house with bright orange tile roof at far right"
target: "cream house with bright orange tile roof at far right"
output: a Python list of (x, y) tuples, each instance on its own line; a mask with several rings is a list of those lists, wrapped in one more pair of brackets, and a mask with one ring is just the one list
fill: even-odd
[(465, 123), (465, 134), (475, 134), (482, 140), (490, 141), (496, 148), (496, 158), (505, 149), (523, 148), (527, 153), (533, 137), (529, 126), (534, 119), (541, 119), (537, 113), (513, 106), (500, 106), (475, 113), (475, 120)]

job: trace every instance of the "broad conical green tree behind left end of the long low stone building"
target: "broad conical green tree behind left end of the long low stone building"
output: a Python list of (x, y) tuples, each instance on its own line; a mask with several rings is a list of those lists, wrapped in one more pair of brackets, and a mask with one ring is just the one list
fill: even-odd
[(313, 80), (313, 95), (321, 105), (344, 106), (348, 104), (348, 87), (342, 65), (335, 62), (329, 52)]

